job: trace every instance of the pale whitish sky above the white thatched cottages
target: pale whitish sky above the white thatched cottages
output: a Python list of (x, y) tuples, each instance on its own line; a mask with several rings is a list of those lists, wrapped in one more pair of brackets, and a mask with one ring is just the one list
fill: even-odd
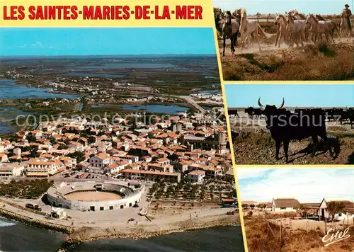
[(354, 201), (353, 168), (238, 168), (241, 201), (292, 197), (320, 203), (324, 197)]

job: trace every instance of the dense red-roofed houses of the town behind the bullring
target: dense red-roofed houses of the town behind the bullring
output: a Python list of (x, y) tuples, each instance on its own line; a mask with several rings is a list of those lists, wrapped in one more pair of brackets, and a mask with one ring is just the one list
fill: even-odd
[[(203, 118), (176, 115), (156, 125), (139, 122), (131, 127), (122, 118), (115, 118), (120, 121), (115, 124), (86, 118), (40, 122), (36, 130), (1, 139), (0, 176), (47, 177), (71, 169), (174, 182), (186, 171), (193, 182), (204, 176), (233, 176), (227, 132), (216, 122), (202, 124)], [(198, 175), (193, 176), (194, 170)]]

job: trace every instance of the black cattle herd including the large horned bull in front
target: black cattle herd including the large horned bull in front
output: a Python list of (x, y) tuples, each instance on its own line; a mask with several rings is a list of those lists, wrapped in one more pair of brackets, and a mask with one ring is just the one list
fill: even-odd
[[(314, 142), (312, 149), (312, 156), (314, 156), (316, 147), (319, 144), (318, 137), (321, 137), (326, 144), (326, 149), (329, 150), (331, 157), (336, 158), (340, 151), (340, 144), (338, 137), (335, 137), (326, 132), (326, 118), (336, 118), (336, 120), (350, 120), (350, 124), (353, 128), (354, 122), (354, 109), (348, 108), (343, 110), (342, 108), (332, 108), (324, 110), (322, 108), (299, 108), (295, 109), (292, 113), (290, 110), (283, 108), (285, 103), (282, 98), (282, 104), (277, 108), (275, 105), (262, 105), (261, 98), (258, 99), (258, 105), (260, 108), (246, 108), (246, 113), (249, 117), (261, 117), (265, 116), (266, 127), (270, 130), (272, 138), (275, 140), (275, 159), (279, 159), (280, 145), (283, 145), (285, 161), (288, 161), (288, 149), (291, 140), (301, 140), (308, 137), (312, 138)], [(237, 115), (236, 110), (228, 110), (229, 115)], [(332, 148), (334, 154), (332, 152)]]

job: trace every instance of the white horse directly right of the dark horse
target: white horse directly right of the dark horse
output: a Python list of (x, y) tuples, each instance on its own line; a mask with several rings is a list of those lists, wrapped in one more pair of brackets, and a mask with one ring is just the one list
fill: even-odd
[(246, 10), (241, 10), (241, 25), (240, 25), (240, 33), (241, 33), (241, 50), (244, 48), (246, 41), (249, 39), (249, 36), (253, 34), (254, 38), (256, 38), (258, 42), (258, 48), (261, 52), (261, 43), (259, 42), (260, 36), (263, 38), (267, 38), (264, 30), (258, 24), (257, 21), (249, 21), (247, 19)]

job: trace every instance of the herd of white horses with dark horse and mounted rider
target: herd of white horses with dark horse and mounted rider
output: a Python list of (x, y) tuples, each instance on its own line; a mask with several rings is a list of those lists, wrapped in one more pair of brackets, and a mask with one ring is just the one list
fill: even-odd
[[(334, 42), (334, 32), (338, 33), (338, 40), (344, 32), (347, 32), (347, 40), (350, 40), (352, 30), (348, 25), (346, 11), (341, 13), (341, 23), (336, 25), (334, 21), (326, 21), (319, 15), (309, 14), (304, 16), (297, 11), (285, 12), (285, 15), (276, 14), (275, 25), (277, 26), (277, 38), (275, 40), (275, 47), (280, 47), (280, 42), (283, 40), (289, 47), (294, 47), (294, 44), (299, 47), (304, 46), (304, 42), (311, 40), (316, 42), (324, 40), (326, 42)], [(225, 55), (226, 40), (231, 40), (230, 49), (232, 54), (235, 52), (237, 45), (237, 37), (241, 35), (241, 50), (250, 43), (250, 37), (255, 38), (258, 42), (258, 49), (261, 51), (260, 38), (268, 38), (261, 25), (256, 20), (247, 19), (246, 10), (241, 10), (241, 16), (236, 18), (232, 16), (230, 11), (224, 13), (224, 20), (220, 23), (222, 35), (219, 38), (223, 40), (222, 55)]]

